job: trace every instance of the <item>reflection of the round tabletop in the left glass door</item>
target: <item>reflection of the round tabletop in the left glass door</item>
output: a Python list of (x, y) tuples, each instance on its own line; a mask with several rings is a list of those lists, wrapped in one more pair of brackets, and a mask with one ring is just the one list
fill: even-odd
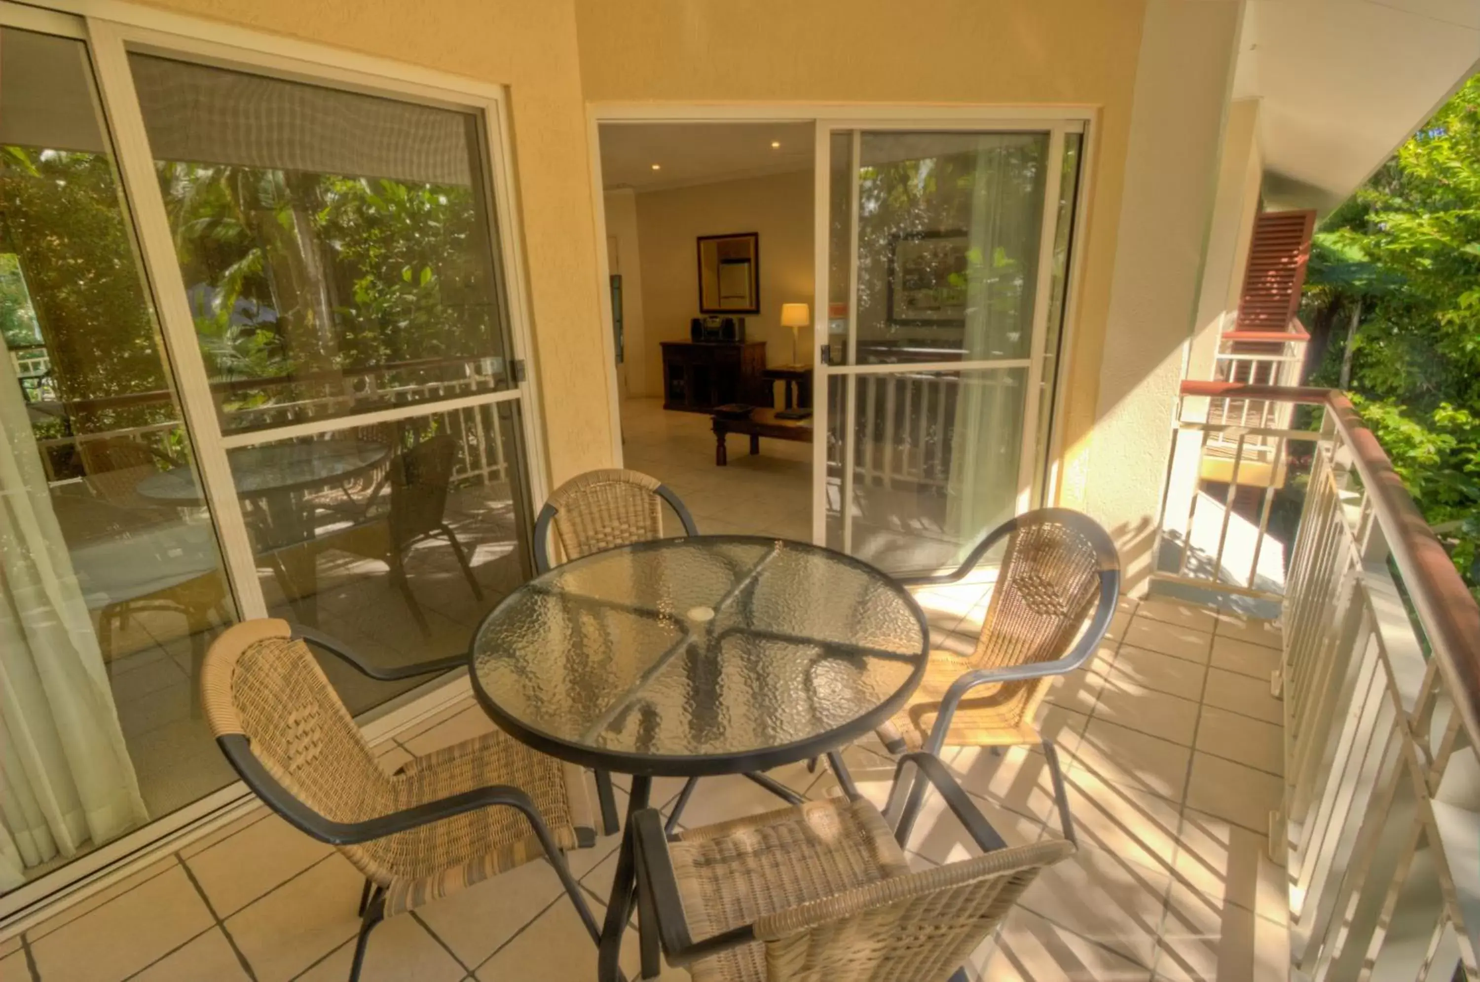
[[(266, 495), (333, 483), (374, 467), (391, 452), (373, 440), (314, 440), (308, 443), (262, 443), (226, 450), (231, 480), (238, 495)], [(139, 495), (155, 501), (195, 502), (201, 498), (188, 467), (149, 474), (138, 484)]]

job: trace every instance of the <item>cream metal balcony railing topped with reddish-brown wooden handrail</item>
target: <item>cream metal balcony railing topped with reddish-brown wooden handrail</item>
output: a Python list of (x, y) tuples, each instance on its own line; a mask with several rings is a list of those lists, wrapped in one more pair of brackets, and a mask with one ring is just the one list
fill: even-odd
[[(1206, 422), (1205, 398), (1317, 406), (1320, 422)], [(1477, 978), (1480, 609), (1345, 395), (1184, 382), (1183, 403), (1156, 578), (1280, 601), (1271, 847), (1288, 855), (1292, 978)], [(1222, 481), (1202, 468), (1212, 434), (1234, 447)], [(1251, 465), (1268, 481), (1240, 499)], [(1174, 490), (1180, 475), (1191, 490)], [(1218, 520), (1175, 527), (1188, 499), (1191, 514), (1221, 504)], [(1271, 526), (1294, 505), (1294, 527)], [(1254, 563), (1230, 570), (1240, 536)]]

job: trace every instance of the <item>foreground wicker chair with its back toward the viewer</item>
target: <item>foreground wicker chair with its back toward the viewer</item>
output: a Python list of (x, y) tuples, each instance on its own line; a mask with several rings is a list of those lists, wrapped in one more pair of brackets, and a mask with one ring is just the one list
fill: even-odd
[(638, 812), (642, 978), (657, 978), (662, 949), (696, 982), (965, 979), (959, 966), (1039, 869), (1074, 852), (1074, 826), (1064, 807), (1066, 838), (1008, 847), (935, 757), (909, 754), (906, 764), (935, 785), (984, 855), (910, 872), (904, 829), (891, 831), (841, 770), (842, 798), (673, 840), (657, 812)]

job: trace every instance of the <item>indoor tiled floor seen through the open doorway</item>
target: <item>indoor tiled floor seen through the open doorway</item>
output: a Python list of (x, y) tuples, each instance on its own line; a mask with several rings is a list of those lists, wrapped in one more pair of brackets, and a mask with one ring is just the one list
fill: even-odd
[(651, 474), (684, 501), (704, 535), (813, 538), (813, 444), (730, 435), (730, 462), (715, 465), (704, 413), (667, 412), (656, 398), (622, 404), (623, 464)]

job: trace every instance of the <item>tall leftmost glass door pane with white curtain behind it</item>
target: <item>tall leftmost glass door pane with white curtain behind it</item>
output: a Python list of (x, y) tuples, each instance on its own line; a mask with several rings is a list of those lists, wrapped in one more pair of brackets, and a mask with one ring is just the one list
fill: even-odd
[[(0, 31), (0, 889), (234, 779), (235, 619), (80, 41)], [(178, 475), (189, 499), (147, 483)], [(9, 862), (18, 856), (18, 862)]]

